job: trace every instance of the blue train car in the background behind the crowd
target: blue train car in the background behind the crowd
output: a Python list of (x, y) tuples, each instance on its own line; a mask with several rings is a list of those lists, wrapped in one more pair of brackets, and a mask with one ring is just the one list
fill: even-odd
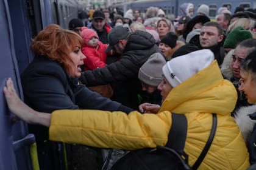
[(214, 19), (215, 16), (218, 13), (218, 9), (220, 7), (227, 7), (232, 13), (235, 12), (236, 7), (244, 7), (244, 9), (255, 9), (256, 8), (256, 2), (254, 0), (248, 0), (248, 1), (241, 1), (241, 0), (233, 0), (233, 1), (220, 1), (220, 0), (209, 0), (209, 1), (204, 1), (204, 0), (160, 0), (160, 1), (154, 1), (154, 0), (138, 0), (138, 1), (132, 1), (132, 2), (124, 2), (121, 4), (114, 4), (112, 7), (117, 7), (119, 9), (122, 9), (124, 12), (128, 9), (138, 9), (140, 10), (141, 13), (145, 13), (146, 9), (148, 7), (158, 7), (162, 9), (166, 15), (175, 15), (179, 16), (180, 15), (180, 5), (185, 3), (185, 2), (190, 2), (194, 4), (194, 12), (198, 9), (199, 5), (201, 4), (206, 4), (210, 8), (210, 13), (209, 16), (211, 19)]

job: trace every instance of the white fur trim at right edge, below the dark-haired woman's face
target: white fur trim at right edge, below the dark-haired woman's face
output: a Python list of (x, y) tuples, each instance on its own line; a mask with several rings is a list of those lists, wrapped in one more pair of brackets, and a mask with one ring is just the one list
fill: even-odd
[(238, 124), (245, 141), (252, 133), (252, 129), (254, 129), (254, 124), (256, 123), (256, 120), (252, 120), (248, 116), (254, 112), (256, 112), (256, 105), (240, 107), (240, 109), (235, 112), (235, 121)]

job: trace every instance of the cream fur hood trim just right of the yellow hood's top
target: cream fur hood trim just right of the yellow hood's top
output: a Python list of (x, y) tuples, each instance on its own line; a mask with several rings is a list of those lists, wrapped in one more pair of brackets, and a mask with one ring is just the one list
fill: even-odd
[(233, 50), (230, 50), (229, 53), (225, 56), (223, 63), (221, 64), (221, 73), (227, 80), (233, 77), (233, 69), (232, 69), (232, 60), (233, 60)]

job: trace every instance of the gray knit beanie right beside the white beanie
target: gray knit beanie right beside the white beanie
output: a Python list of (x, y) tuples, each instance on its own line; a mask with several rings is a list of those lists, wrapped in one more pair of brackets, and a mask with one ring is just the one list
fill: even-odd
[(162, 67), (166, 64), (161, 53), (152, 54), (149, 59), (140, 67), (138, 79), (150, 86), (158, 86), (163, 80)]

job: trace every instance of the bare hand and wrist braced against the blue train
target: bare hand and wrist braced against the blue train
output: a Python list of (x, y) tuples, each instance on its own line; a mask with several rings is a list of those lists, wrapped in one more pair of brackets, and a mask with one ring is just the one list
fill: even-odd
[(27, 123), (41, 124), (49, 127), (51, 114), (37, 112), (21, 101), (20, 97), (18, 97), (16, 93), (11, 78), (8, 78), (6, 81), (6, 85), (4, 86), (4, 95), (10, 111), (21, 120), (24, 120)]

